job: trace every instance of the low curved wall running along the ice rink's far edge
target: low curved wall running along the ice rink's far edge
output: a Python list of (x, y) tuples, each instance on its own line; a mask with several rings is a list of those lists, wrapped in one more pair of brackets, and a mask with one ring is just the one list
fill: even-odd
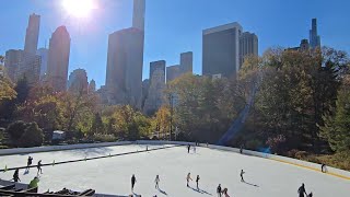
[[(118, 142), (103, 142), (103, 143), (82, 143), (82, 144), (69, 144), (69, 146), (51, 146), (51, 147), (35, 147), (35, 148), (19, 148), (19, 149), (2, 149), (0, 150), (1, 155), (11, 155), (11, 154), (23, 154), (23, 153), (37, 153), (37, 152), (49, 152), (49, 151), (62, 151), (62, 150), (72, 150), (72, 149), (88, 149), (88, 148), (100, 148), (100, 147), (113, 147), (113, 146), (126, 146), (126, 144), (177, 144), (177, 146), (195, 146), (195, 142), (184, 142), (184, 141), (154, 141), (154, 140), (139, 140), (139, 141), (118, 141)], [(207, 147), (205, 143), (200, 143), (200, 147)], [(236, 152), (240, 153), (240, 149), (231, 147), (222, 147), (208, 144), (207, 148)], [(244, 150), (244, 154), (254, 155), (259, 158), (265, 158), (273, 161), (278, 161), (285, 164), (295, 165), (299, 167), (304, 167), (307, 170), (320, 172), (320, 164), (306, 162), (302, 160), (296, 160), (287, 157), (280, 157), (276, 154), (261, 153), (257, 151)], [(350, 181), (350, 172), (327, 166), (327, 173), (332, 176)]]

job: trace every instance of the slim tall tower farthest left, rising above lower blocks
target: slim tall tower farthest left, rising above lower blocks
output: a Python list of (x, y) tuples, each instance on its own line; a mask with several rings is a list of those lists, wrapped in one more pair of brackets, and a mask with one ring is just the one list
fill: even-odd
[(39, 37), (40, 15), (33, 13), (30, 16), (28, 26), (25, 34), (24, 53), (36, 54)]

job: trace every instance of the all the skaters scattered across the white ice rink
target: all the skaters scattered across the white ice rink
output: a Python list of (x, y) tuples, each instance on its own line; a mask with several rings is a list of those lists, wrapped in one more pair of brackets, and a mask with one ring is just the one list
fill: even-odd
[[(199, 143), (196, 142), (195, 146), (192, 146), (194, 153), (196, 153), (196, 146), (199, 146)], [(208, 143), (207, 143), (207, 147), (208, 147)], [(191, 148), (191, 146), (190, 146), (190, 144), (187, 144), (187, 152), (188, 152), (188, 153), (190, 152), (190, 148)], [(148, 147), (147, 147), (147, 150), (148, 150)], [(240, 147), (240, 153), (243, 154), (243, 146)], [(32, 157), (28, 157), (28, 158), (27, 158), (26, 171), (30, 170), (30, 167), (32, 166), (32, 164), (33, 164), (33, 158), (32, 158)], [(34, 165), (34, 166), (35, 166), (35, 165)], [(31, 181), (31, 183), (28, 184), (28, 188), (38, 187), (38, 182), (39, 182), (38, 175), (39, 175), (39, 174), (43, 174), (43, 169), (42, 169), (42, 166), (43, 166), (42, 160), (39, 160), (39, 161), (37, 162), (37, 165), (36, 165), (36, 167), (37, 167), (37, 176), (35, 176), (35, 177)], [(13, 174), (13, 178), (12, 178), (13, 182), (21, 182), (21, 178), (20, 178), (20, 176), (19, 176), (19, 171), (20, 171), (19, 169), (15, 169), (14, 174)], [(326, 172), (326, 165), (325, 165), (325, 164), (322, 164), (322, 172), (324, 172), (324, 173)], [(241, 170), (241, 173), (240, 173), (241, 182), (245, 182), (245, 181), (244, 181), (244, 177), (243, 177), (244, 174), (245, 174), (245, 172), (244, 172), (243, 170)], [(160, 189), (160, 186), (159, 186), (160, 181), (161, 181), (161, 179), (160, 179), (160, 176), (156, 175), (156, 176), (155, 176), (155, 179), (154, 179), (155, 188), (156, 188), (156, 189)], [(192, 181), (192, 178), (191, 178), (190, 173), (188, 173), (187, 176), (186, 176), (186, 186), (187, 186), (187, 187), (189, 187), (189, 182), (190, 182), (190, 181)], [(199, 181), (200, 181), (200, 176), (197, 175), (197, 177), (196, 177), (196, 187), (197, 187), (197, 190), (199, 190)], [(135, 176), (135, 174), (132, 174), (132, 176), (131, 176), (131, 192), (132, 192), (132, 193), (133, 193), (133, 188), (135, 188), (136, 182), (137, 182), (136, 176)], [(221, 187), (221, 184), (219, 184), (219, 186), (217, 187), (217, 194), (218, 194), (218, 197), (230, 197), (229, 194), (228, 194), (228, 188), (222, 188), (222, 187)], [(302, 186), (299, 187), (298, 194), (299, 194), (299, 197), (313, 197), (313, 193), (310, 193), (310, 194), (306, 193), (306, 189), (305, 189), (305, 185), (304, 185), (304, 184), (302, 184)], [(141, 195), (139, 195), (139, 196), (141, 196)], [(156, 197), (156, 195), (155, 195), (154, 197)]]

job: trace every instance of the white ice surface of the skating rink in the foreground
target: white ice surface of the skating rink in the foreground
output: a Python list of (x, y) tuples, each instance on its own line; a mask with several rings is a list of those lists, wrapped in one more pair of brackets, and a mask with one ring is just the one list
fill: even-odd
[[(159, 147), (159, 146), (158, 146)], [(149, 149), (158, 148), (149, 146)], [(231, 197), (298, 197), (298, 188), (305, 183), (306, 192), (314, 197), (350, 197), (350, 181), (280, 163), (268, 159), (242, 155), (234, 152), (208, 148), (197, 148), (187, 153), (186, 147), (173, 147), (112, 157), (75, 163), (43, 167), (39, 192), (59, 190), (63, 187), (73, 190), (93, 188), (98, 194), (128, 196), (131, 194), (130, 177), (136, 175), (136, 195), (145, 197), (218, 196), (218, 184), (229, 189)], [(30, 154), (51, 163), (84, 159), (96, 155), (145, 150), (145, 146), (116, 146), (92, 149), (42, 152)], [(26, 165), (28, 154), (0, 157), (0, 169)], [(244, 170), (246, 183), (242, 183), (240, 172)], [(191, 173), (190, 187), (186, 187), (187, 173)], [(28, 173), (20, 171), (22, 183), (28, 183), (37, 174), (36, 169)], [(1, 179), (11, 179), (13, 171), (0, 173)], [(160, 190), (154, 188), (155, 175), (160, 175)], [(196, 176), (200, 175), (199, 190)]]

